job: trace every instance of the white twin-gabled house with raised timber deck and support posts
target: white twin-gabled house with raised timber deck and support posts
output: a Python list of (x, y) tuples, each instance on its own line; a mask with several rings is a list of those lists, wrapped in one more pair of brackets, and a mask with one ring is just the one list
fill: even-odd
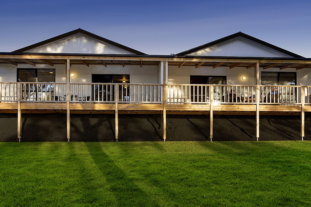
[(265, 113), (301, 115), (311, 111), (311, 59), (238, 32), (176, 55), (147, 55), (83, 29), (13, 52), (0, 53), (0, 110), (22, 113), (166, 114)]

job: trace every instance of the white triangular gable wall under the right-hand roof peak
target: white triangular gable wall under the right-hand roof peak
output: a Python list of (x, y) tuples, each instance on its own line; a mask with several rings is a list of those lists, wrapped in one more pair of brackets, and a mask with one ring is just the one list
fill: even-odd
[(188, 56), (292, 57), (243, 37), (227, 40)]

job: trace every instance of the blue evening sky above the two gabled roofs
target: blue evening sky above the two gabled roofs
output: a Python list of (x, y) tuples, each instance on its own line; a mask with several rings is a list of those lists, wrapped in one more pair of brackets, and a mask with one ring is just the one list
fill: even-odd
[(244, 32), (311, 57), (311, 1), (4, 0), (0, 52), (85, 29), (147, 54), (169, 55)]

